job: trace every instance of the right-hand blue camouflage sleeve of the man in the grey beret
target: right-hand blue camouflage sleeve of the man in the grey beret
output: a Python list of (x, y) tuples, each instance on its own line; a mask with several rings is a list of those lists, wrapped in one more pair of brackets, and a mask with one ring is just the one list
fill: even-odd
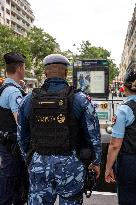
[[(87, 96), (82, 92), (78, 93), (75, 97), (76, 112), (81, 110), (81, 122), (84, 131), (84, 136), (93, 151), (93, 164), (99, 165), (101, 163), (102, 147), (101, 147), (101, 134), (98, 116), (92, 102), (87, 99)], [(78, 114), (79, 116), (79, 114)]]

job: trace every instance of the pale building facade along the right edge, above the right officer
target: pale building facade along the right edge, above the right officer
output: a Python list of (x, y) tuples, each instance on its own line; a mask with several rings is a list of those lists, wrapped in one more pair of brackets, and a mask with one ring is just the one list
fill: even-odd
[(134, 8), (132, 20), (128, 25), (127, 35), (125, 39), (124, 50), (120, 64), (120, 80), (123, 80), (125, 71), (132, 61), (136, 61), (136, 5)]

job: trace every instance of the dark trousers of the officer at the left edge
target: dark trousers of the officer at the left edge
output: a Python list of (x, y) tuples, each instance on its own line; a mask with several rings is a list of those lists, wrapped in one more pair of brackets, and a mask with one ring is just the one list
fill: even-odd
[(13, 159), (0, 145), (0, 205), (23, 205), (22, 161)]

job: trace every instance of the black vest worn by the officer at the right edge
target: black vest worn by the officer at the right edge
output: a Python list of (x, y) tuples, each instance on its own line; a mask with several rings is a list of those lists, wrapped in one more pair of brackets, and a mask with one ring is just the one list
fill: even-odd
[(131, 100), (125, 103), (128, 105), (135, 116), (135, 121), (132, 125), (126, 127), (125, 137), (123, 140), (121, 152), (128, 154), (136, 154), (136, 102)]

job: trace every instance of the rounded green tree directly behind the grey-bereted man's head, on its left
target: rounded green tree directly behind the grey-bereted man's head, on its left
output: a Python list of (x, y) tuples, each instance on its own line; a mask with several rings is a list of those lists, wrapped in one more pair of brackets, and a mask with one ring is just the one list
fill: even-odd
[(56, 39), (53, 38), (50, 34), (37, 27), (33, 27), (28, 32), (27, 38), (30, 43), (35, 75), (40, 80), (43, 73), (43, 59), (49, 54), (59, 52), (59, 44), (56, 42)]

